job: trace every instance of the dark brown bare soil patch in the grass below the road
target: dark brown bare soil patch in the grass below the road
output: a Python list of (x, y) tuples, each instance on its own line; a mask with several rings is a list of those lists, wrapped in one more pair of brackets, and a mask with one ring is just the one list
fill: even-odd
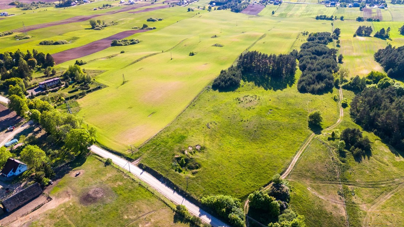
[(98, 202), (109, 202), (112, 200), (113, 192), (105, 186), (92, 187), (82, 194), (80, 203), (89, 206)]

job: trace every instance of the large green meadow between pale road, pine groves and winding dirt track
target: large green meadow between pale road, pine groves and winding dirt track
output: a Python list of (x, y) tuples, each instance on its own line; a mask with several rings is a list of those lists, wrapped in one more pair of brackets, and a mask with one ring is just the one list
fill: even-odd
[[(297, 73), (296, 79), (300, 73)], [(311, 134), (308, 112), (320, 109), (326, 128), (338, 119), (333, 93), (300, 94), (296, 83), (283, 90), (264, 90), (243, 83), (235, 92), (205, 90), (173, 123), (139, 150), (141, 163), (160, 172), (195, 196), (229, 194), (246, 198), (284, 170)], [(200, 169), (178, 173), (175, 155), (188, 146)]]

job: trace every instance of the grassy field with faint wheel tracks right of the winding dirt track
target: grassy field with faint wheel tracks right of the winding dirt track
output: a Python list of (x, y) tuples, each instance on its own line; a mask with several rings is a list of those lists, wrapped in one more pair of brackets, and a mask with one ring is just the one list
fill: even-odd
[[(343, 92), (350, 102), (354, 94)], [(349, 107), (337, 130), (347, 127), (359, 127), (351, 121)], [(394, 198), (404, 191), (404, 153), (364, 131), (370, 154), (360, 159), (350, 152), (340, 155), (328, 136), (313, 140), (290, 175), (293, 209), (305, 215), (310, 226), (346, 226), (346, 214), (349, 226), (401, 226), (404, 204)]]

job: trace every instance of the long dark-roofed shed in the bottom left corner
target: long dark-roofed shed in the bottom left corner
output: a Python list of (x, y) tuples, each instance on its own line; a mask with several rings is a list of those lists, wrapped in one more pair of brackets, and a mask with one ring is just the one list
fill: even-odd
[(22, 191), (17, 192), (13, 196), (3, 200), (2, 205), (4, 210), (10, 212), (12, 210), (15, 210), (19, 206), (24, 205), (26, 202), (32, 200), (40, 194), (42, 194), (42, 188), (40, 187), (39, 183), (36, 182), (33, 185), (23, 189)]

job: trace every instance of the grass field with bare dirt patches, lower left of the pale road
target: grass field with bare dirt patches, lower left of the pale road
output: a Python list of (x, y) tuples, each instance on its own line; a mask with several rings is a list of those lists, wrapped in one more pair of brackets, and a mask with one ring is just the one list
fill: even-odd
[[(80, 175), (75, 177), (75, 173)], [(29, 219), (31, 227), (170, 226), (173, 210), (117, 169), (89, 157), (56, 183), (48, 204), (55, 206)], [(28, 226), (28, 225), (25, 225)]]

